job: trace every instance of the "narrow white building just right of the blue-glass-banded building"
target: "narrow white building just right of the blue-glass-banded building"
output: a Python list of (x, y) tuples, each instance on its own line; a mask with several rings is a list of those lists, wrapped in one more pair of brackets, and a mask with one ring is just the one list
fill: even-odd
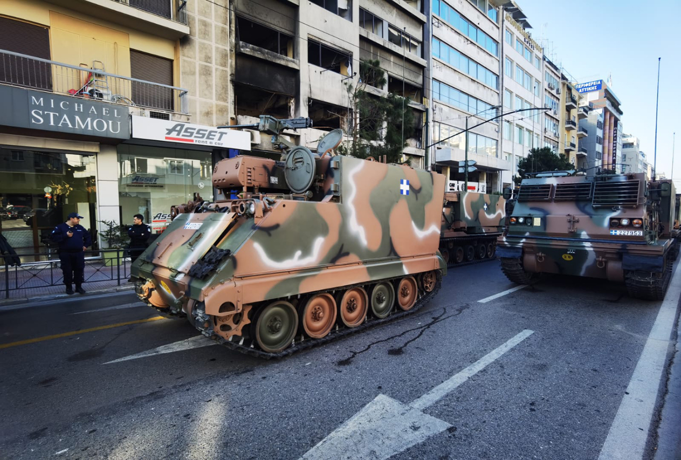
[[(530, 24), (524, 17), (518, 5), (504, 17), (504, 112), (543, 107), (543, 48), (533, 40), (528, 31)], [(543, 144), (543, 116), (540, 110), (527, 110), (504, 117), (501, 144), (503, 159), (510, 166), (502, 174), (504, 187), (513, 183), (513, 177), (518, 174), (518, 162), (530, 149)]]

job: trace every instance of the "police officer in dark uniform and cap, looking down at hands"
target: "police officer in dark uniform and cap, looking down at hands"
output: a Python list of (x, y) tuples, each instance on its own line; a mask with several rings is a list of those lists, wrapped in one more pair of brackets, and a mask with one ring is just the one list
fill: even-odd
[(61, 261), (61, 273), (64, 275), (66, 293), (73, 294), (71, 286), (76, 283), (76, 292), (84, 294), (82, 288), (85, 270), (85, 250), (92, 244), (92, 237), (85, 228), (80, 225), (83, 217), (78, 213), (70, 213), (68, 220), (59, 224), (52, 230), (52, 241), (59, 244), (59, 260)]

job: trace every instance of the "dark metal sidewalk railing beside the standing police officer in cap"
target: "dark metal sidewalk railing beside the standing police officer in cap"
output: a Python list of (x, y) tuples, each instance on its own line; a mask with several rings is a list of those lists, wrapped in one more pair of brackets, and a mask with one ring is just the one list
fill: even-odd
[[(53, 286), (64, 286), (61, 262), (49, 260), (54, 253), (19, 254), (0, 256), (0, 291), (5, 298), (17, 291), (37, 290)], [(44, 258), (44, 262), (16, 264), (19, 258)], [(85, 251), (84, 283), (100, 283), (100, 286), (121, 286), (130, 276), (130, 262), (126, 249), (99, 249)], [(59, 291), (61, 293), (61, 291)]]

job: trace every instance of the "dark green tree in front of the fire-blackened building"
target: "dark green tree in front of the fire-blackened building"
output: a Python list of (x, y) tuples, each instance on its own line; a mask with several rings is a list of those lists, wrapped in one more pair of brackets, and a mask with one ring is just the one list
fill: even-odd
[[(413, 132), (414, 114), (409, 108), (409, 97), (388, 93), (382, 97), (367, 87), (381, 89), (387, 79), (380, 61), (360, 61), (360, 79), (354, 85), (345, 83), (351, 109), (347, 132), (350, 140), (338, 147), (338, 152), (358, 158), (382, 158), (398, 163)], [(404, 129), (402, 129), (404, 126)]]

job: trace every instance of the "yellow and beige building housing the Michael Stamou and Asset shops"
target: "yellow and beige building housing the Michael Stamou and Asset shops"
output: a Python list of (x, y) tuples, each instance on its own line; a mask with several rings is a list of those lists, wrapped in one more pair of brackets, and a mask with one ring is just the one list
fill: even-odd
[(44, 251), (71, 212), (93, 234), (137, 213), (161, 231), (172, 204), (212, 198), (215, 157), (250, 148), (206, 135), (229, 122), (227, 22), (223, 0), (0, 3), (0, 206), (35, 211), (0, 222), (15, 249)]

